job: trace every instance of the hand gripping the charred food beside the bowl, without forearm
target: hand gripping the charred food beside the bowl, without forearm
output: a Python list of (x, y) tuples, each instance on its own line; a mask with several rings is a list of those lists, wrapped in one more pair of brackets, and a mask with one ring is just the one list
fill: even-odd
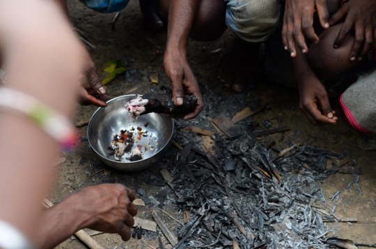
[(203, 110), (204, 102), (196, 77), (194, 76), (187, 55), (178, 49), (166, 50), (164, 53), (164, 69), (172, 83), (173, 101), (175, 105), (182, 105), (185, 94), (192, 94), (198, 98), (194, 111), (185, 115), (184, 119), (194, 119)]

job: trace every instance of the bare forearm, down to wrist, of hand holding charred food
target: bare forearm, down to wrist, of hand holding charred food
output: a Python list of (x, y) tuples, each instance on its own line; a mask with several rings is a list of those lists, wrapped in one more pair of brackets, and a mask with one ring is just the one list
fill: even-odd
[(201, 0), (170, 1), (167, 50), (186, 51), (189, 33), (200, 3)]

